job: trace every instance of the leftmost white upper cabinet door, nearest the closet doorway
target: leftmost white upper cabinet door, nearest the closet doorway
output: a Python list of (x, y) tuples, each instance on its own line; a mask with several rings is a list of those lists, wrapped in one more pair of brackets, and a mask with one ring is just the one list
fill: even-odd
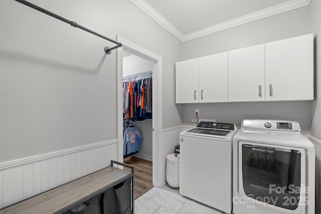
[(199, 102), (199, 59), (176, 63), (176, 103)]

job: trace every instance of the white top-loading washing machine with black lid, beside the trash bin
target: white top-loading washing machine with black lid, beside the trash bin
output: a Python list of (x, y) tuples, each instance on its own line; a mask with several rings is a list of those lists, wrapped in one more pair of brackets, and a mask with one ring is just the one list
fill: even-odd
[(231, 213), (232, 123), (200, 121), (180, 134), (180, 194)]

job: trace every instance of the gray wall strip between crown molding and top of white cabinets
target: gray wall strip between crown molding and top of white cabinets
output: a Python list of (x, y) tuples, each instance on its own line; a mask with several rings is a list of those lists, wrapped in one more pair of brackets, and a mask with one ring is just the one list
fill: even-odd
[(188, 60), (309, 33), (309, 8), (303, 7), (183, 43)]

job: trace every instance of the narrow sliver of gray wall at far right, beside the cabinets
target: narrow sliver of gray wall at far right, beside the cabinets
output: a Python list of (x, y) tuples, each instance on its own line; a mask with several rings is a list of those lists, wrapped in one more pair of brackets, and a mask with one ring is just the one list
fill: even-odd
[(314, 33), (314, 100), (311, 102), (311, 135), (321, 140), (321, 2), (311, 1), (310, 31)]

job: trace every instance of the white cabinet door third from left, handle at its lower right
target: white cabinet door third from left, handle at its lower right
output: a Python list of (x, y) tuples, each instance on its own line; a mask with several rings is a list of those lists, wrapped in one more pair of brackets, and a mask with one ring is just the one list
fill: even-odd
[(228, 52), (228, 100), (264, 100), (264, 44)]

